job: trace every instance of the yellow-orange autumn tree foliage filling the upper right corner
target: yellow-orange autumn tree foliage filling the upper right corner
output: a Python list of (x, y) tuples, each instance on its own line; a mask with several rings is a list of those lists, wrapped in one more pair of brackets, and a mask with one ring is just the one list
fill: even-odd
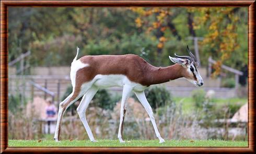
[(204, 52), (207, 57), (212, 56), (217, 60), (213, 76), (220, 73), (220, 65), (223, 63), (238, 69), (247, 64), (247, 48), (243, 44), (247, 44), (247, 41), (239, 39), (241, 37), (247, 40), (246, 32), (241, 33), (239, 30), (239, 27), (245, 28), (247, 25), (246, 20), (241, 18), (239, 20), (240, 16), (247, 16), (245, 8), (189, 8), (188, 10), (195, 15), (192, 23), (194, 30), (207, 29), (201, 46), (207, 51)]

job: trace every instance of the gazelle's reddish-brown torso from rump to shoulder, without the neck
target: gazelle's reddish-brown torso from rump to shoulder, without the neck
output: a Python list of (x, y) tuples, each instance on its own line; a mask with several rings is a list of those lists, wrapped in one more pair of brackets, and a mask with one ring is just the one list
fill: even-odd
[(79, 60), (82, 63), (89, 64), (88, 67), (78, 70), (76, 81), (79, 80), (79, 82), (89, 81), (98, 74), (118, 74), (125, 75), (131, 81), (149, 86), (147, 72), (158, 69), (134, 54), (83, 56)]

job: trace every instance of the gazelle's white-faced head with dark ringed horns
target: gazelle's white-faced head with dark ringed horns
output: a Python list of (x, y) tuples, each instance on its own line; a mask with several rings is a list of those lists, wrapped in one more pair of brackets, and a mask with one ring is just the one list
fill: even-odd
[(189, 50), (189, 46), (187, 46), (187, 51), (189, 52), (190, 56), (178, 56), (176, 53), (174, 53), (176, 57), (169, 56), (169, 58), (173, 63), (183, 66), (184, 78), (189, 80), (196, 87), (201, 87), (203, 86), (204, 81), (199, 73), (199, 63), (196, 61), (196, 57)]

